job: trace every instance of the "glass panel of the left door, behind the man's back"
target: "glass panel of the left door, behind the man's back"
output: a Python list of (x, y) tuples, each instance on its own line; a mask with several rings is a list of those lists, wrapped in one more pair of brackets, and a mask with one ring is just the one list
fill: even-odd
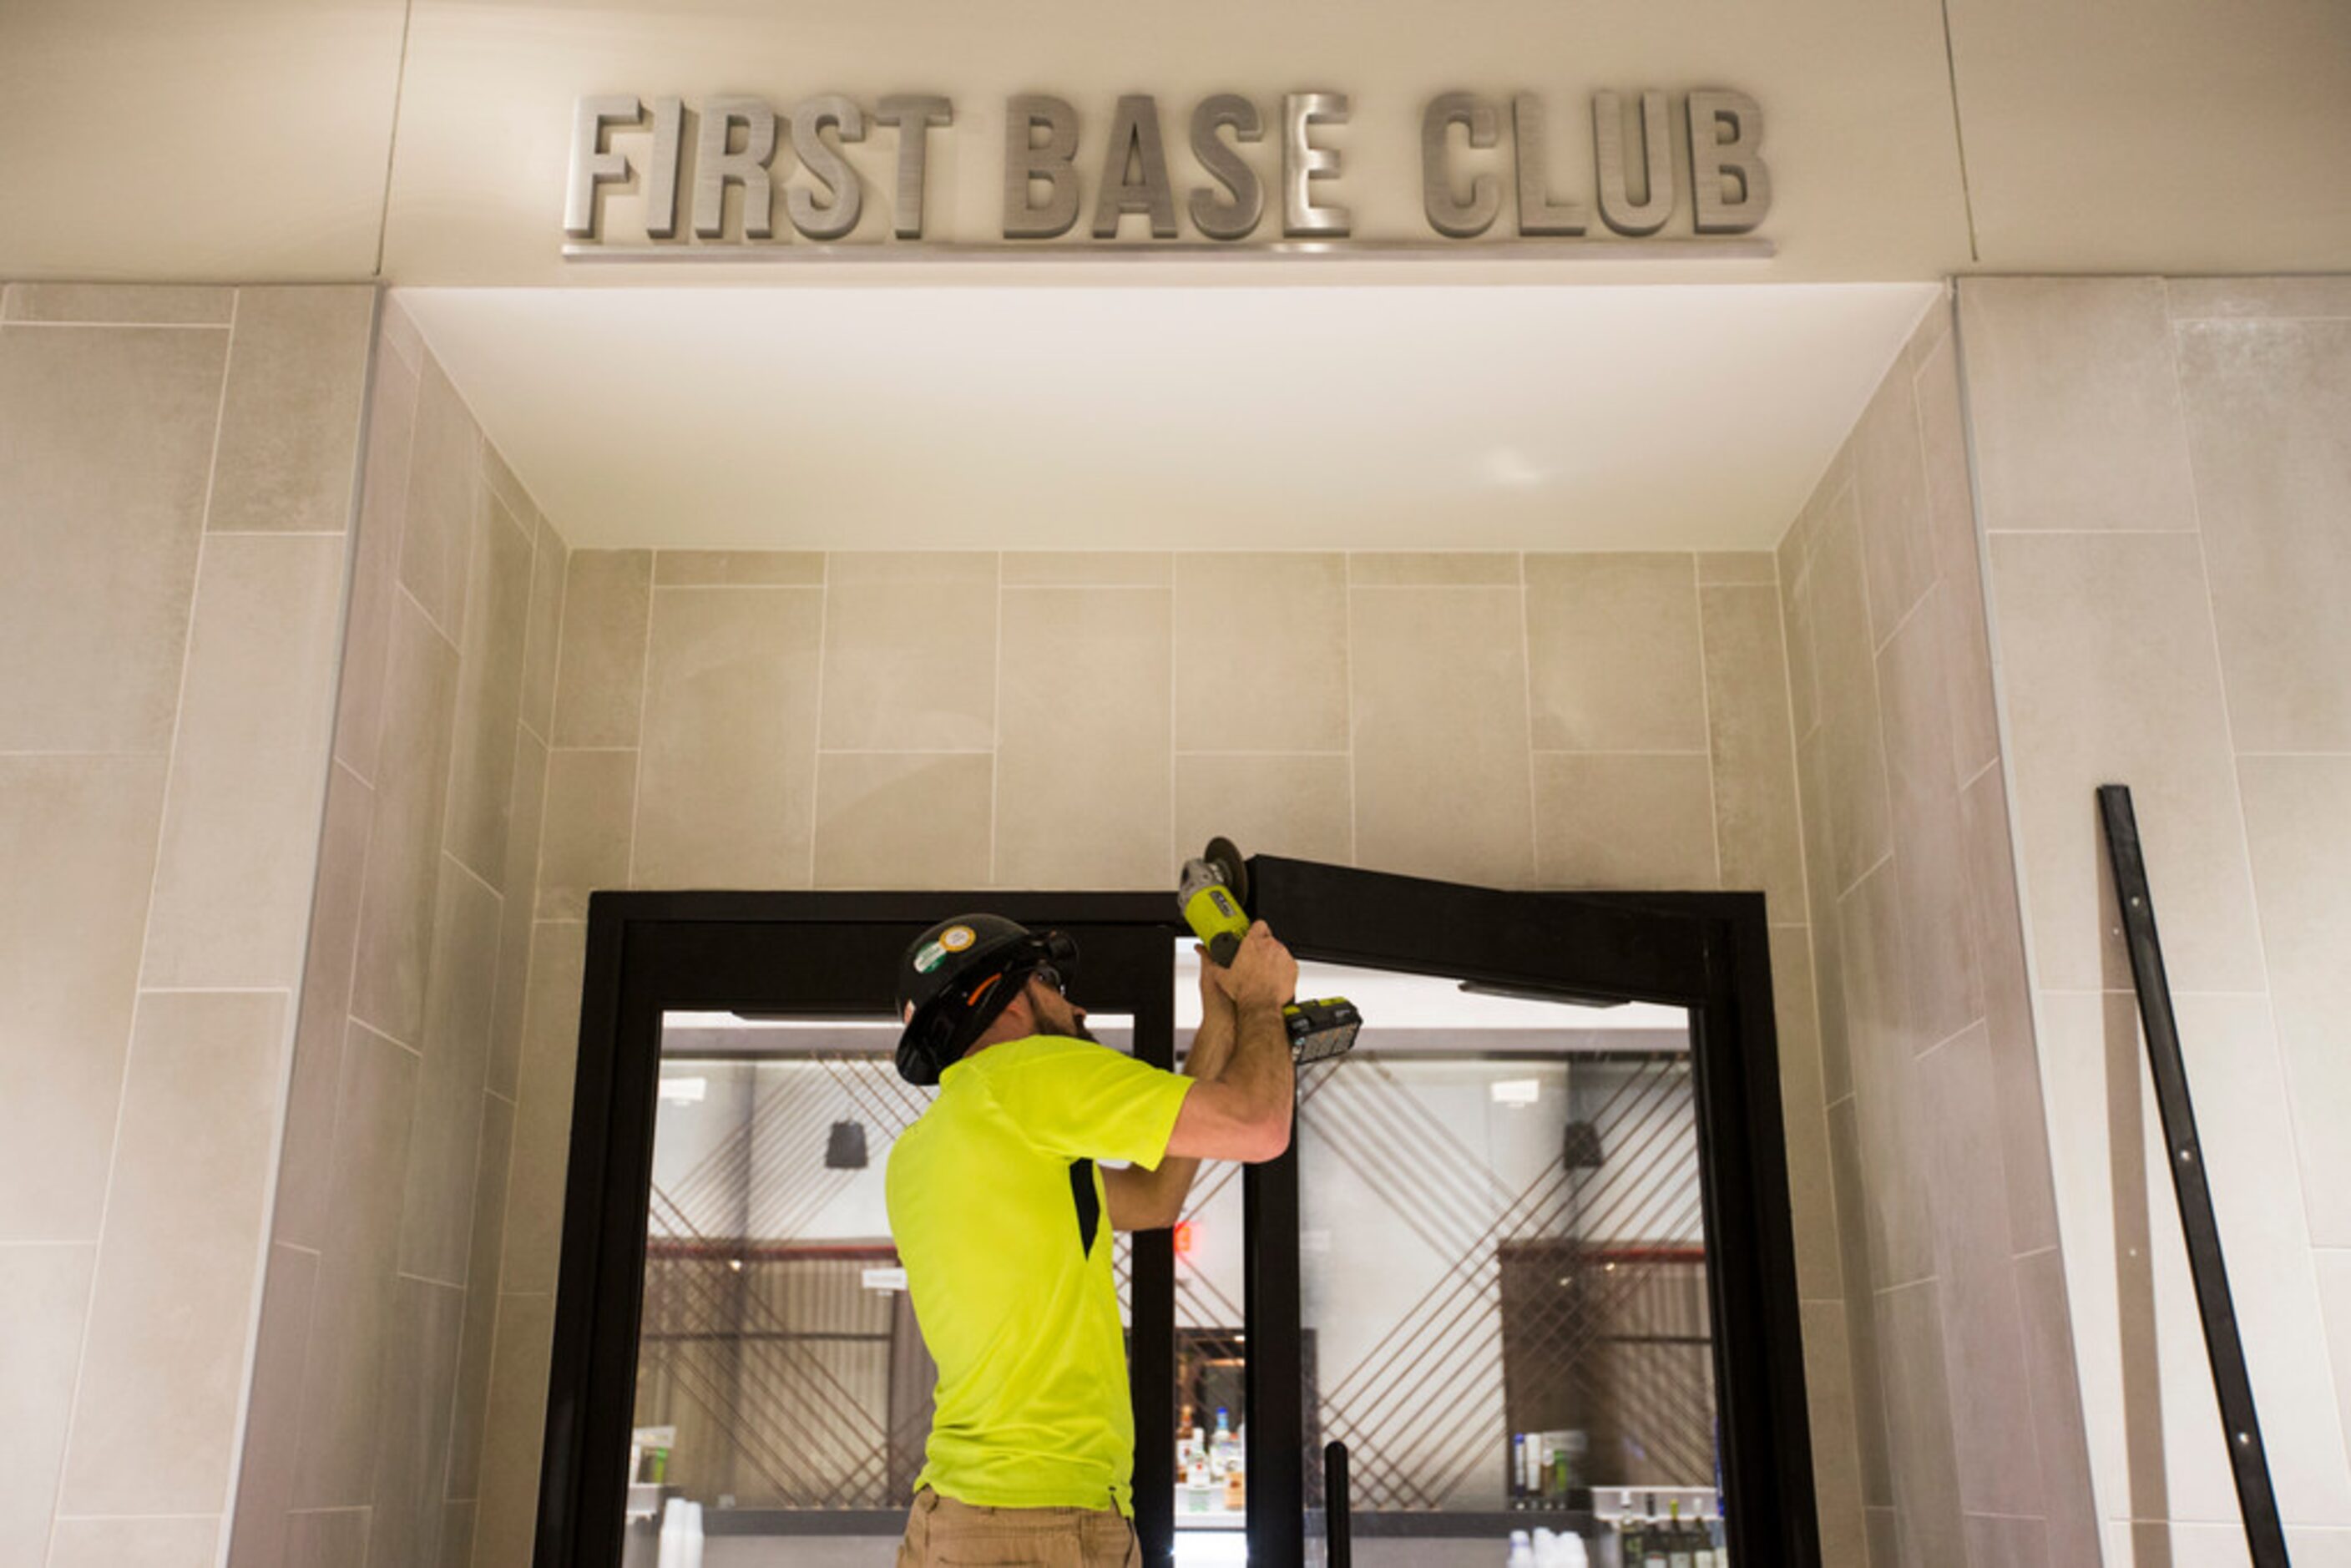
[[(1131, 1048), (1131, 1016), (1086, 1023)], [(938, 1378), (884, 1201), (933, 1095), (896, 1041), (891, 1020), (663, 1020), (623, 1568), (654, 1568), (670, 1500), (731, 1568), (893, 1561)]]

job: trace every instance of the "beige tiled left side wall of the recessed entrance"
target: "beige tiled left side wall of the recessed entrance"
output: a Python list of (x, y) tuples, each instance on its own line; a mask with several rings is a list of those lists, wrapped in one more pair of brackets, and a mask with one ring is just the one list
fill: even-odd
[(473, 1559), (564, 559), (386, 306), (315, 900), (186, 938), (299, 950), (308, 914), (235, 1568)]

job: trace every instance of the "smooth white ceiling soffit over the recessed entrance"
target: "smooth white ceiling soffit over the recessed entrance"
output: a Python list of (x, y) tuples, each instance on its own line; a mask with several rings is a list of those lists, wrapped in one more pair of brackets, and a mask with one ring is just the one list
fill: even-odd
[(1763, 550), (1937, 284), (397, 299), (574, 545)]

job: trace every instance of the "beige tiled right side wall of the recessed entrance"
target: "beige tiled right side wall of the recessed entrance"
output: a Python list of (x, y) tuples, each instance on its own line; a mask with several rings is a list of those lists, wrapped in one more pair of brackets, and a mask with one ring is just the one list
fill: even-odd
[[(2088, 1563), (1951, 310), (1780, 545), (1841, 1258), (1815, 1401), (1867, 1509), (1831, 1563)], [(1827, 1229), (1822, 1234), (1829, 1234)], [(1841, 1521), (1853, 1514), (1841, 1509)]]

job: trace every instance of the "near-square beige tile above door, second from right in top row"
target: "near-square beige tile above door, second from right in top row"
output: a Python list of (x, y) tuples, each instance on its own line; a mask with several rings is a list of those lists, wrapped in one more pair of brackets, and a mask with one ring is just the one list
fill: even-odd
[(1535, 750), (1702, 752), (1690, 555), (1528, 555)]

